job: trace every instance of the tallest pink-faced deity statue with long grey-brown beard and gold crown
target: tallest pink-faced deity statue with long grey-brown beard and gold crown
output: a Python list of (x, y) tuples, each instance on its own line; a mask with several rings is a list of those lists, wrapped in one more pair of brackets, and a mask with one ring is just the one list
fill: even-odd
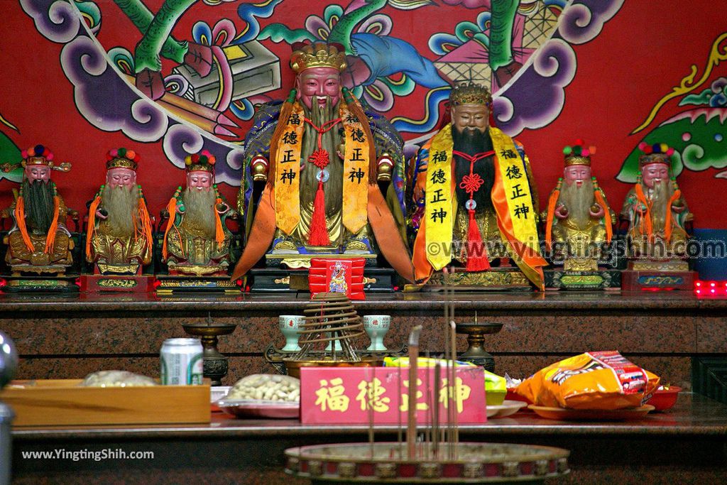
[[(294, 49), (295, 89), (282, 105), (260, 108), (245, 140), (238, 208), (246, 215), (248, 237), (233, 277), (263, 256), (268, 265), (302, 268), (310, 257), (375, 263), (380, 252), (411, 280), (399, 183), (401, 137), (342, 88), (341, 47), (316, 43)], [(254, 181), (262, 180), (265, 189), (253, 215)], [(387, 183), (386, 193), (379, 182)]]

